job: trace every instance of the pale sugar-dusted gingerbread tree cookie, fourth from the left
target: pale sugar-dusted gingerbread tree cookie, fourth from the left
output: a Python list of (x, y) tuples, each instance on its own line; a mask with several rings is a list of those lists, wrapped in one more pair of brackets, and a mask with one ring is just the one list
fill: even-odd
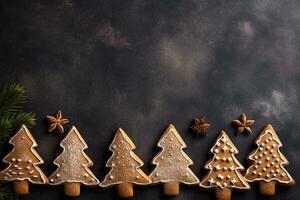
[(189, 168), (193, 161), (182, 150), (186, 148), (186, 144), (172, 124), (161, 136), (158, 146), (162, 151), (153, 158), (152, 163), (156, 168), (149, 177), (153, 183), (163, 183), (164, 194), (178, 195), (179, 183), (187, 185), (199, 183)]

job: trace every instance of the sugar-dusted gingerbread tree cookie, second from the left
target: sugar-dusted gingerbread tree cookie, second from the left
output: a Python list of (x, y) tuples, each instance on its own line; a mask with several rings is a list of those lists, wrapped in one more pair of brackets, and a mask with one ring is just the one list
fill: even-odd
[(88, 146), (75, 126), (70, 129), (60, 146), (63, 152), (54, 160), (58, 168), (49, 177), (50, 185), (64, 184), (65, 195), (79, 196), (81, 184), (89, 186), (99, 184), (89, 169), (94, 164), (84, 153)]

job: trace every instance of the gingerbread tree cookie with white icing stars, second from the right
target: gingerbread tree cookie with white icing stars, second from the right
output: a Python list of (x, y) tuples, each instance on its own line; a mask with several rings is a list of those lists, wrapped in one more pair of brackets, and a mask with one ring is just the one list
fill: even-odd
[(201, 181), (201, 187), (215, 188), (218, 200), (231, 199), (232, 189), (250, 189), (240, 173), (244, 167), (235, 158), (239, 152), (224, 131), (221, 131), (210, 151), (214, 157), (205, 164), (210, 171)]

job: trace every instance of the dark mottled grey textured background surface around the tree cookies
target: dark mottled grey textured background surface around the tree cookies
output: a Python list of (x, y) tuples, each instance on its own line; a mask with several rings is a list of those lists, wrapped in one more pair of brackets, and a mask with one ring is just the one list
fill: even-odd
[[(156, 142), (173, 122), (188, 145), (199, 178), (216, 134), (224, 129), (246, 156), (271, 123), (300, 180), (300, 1), (12, 1), (0, 2), (0, 77), (28, 90), (32, 130), (55, 169), (63, 136), (49, 134), (45, 116), (58, 109), (76, 125), (101, 180), (118, 127), (137, 145), (145, 172)], [(246, 112), (254, 134), (236, 136), (231, 121)], [(207, 137), (195, 137), (193, 117), (207, 116)], [(256, 184), (233, 199), (265, 199)], [(135, 188), (134, 199), (168, 199), (161, 185)], [(113, 199), (115, 190), (82, 187), (78, 199)], [(212, 191), (182, 187), (174, 199), (212, 199)], [(68, 199), (62, 187), (32, 186), (26, 199)], [(272, 199), (300, 199), (299, 186), (277, 187)]]

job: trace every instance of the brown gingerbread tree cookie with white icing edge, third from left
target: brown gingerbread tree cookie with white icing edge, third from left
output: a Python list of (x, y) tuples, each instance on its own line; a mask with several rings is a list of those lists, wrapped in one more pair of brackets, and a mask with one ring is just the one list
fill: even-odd
[(146, 185), (151, 183), (149, 177), (140, 169), (143, 161), (133, 152), (134, 143), (128, 135), (119, 128), (109, 150), (113, 152), (106, 163), (111, 170), (100, 183), (101, 187), (117, 185), (119, 196), (133, 196), (132, 184)]

